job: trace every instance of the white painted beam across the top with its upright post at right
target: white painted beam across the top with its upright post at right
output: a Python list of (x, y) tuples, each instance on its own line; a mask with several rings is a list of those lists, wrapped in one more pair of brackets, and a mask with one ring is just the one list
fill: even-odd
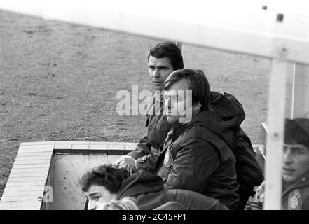
[[(277, 1), (277, 6), (283, 5), (282, 1)], [(286, 6), (280, 10), (276, 8), (261, 10), (261, 1), (256, 3), (256, 1), (219, 0), (214, 4), (195, 0), (186, 3), (157, 0), (151, 7), (147, 1), (138, 0), (114, 0), (109, 3), (90, 0), (74, 2), (2, 0), (0, 3), (0, 9), (36, 15), (46, 20), (63, 20), (309, 64), (308, 4), (305, 1), (289, 1)], [(276, 21), (277, 13), (284, 15), (282, 22)], [(281, 208), (280, 174), (286, 65), (286, 62), (274, 60), (270, 78), (265, 209)], [(295, 83), (306, 80), (304, 79), (306, 77), (298, 77), (297, 73), (296, 69)], [(297, 97), (307, 93), (306, 88), (301, 90), (296, 87), (294, 116), (296, 111), (307, 111), (307, 105), (304, 104), (306, 98), (301, 101)], [(34, 152), (33, 149), (24, 151)]]

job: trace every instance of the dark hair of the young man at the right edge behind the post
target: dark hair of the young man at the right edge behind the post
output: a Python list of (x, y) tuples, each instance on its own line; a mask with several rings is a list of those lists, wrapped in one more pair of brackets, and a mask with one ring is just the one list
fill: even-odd
[(284, 142), (302, 144), (309, 149), (309, 119), (285, 119)]

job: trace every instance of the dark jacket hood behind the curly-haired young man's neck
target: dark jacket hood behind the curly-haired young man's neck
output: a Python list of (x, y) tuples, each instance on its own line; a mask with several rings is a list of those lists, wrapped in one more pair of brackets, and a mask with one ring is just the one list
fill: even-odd
[(117, 197), (132, 197), (142, 193), (153, 193), (163, 190), (163, 180), (156, 174), (139, 170), (124, 179), (118, 190)]

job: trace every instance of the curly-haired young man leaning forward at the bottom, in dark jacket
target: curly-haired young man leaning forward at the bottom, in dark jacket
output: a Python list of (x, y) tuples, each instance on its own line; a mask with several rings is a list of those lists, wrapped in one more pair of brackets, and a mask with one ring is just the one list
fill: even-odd
[(138, 208), (143, 210), (156, 209), (167, 202), (178, 202), (191, 210), (227, 209), (219, 200), (189, 190), (163, 190), (163, 181), (156, 174), (141, 170), (130, 175), (126, 169), (111, 164), (86, 172), (79, 184), (88, 198), (89, 210), (99, 210), (104, 204), (124, 197), (134, 197)]

